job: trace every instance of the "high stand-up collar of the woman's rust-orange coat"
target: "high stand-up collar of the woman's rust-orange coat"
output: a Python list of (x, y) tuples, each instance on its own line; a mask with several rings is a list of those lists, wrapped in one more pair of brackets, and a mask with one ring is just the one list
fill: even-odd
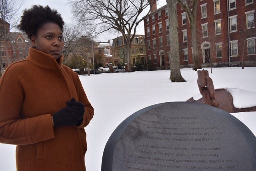
[(36, 66), (39, 66), (40, 68), (50, 70), (56, 69), (56, 67), (60, 67), (63, 61), (63, 55), (60, 57), (60, 62), (58, 63), (53, 56), (34, 48), (29, 48), (26, 60)]

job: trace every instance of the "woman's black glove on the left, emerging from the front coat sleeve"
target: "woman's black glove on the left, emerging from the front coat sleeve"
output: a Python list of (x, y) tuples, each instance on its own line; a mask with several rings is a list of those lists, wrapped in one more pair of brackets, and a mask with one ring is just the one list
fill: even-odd
[(75, 113), (76, 109), (71, 107), (64, 107), (60, 109), (57, 113), (52, 115), (54, 127), (72, 126), (76, 125), (77, 119), (73, 117), (72, 113)]

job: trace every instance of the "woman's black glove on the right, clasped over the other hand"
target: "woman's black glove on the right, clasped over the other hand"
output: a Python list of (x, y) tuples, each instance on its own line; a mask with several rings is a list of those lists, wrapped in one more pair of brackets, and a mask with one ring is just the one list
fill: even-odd
[(76, 101), (74, 98), (72, 98), (70, 101), (67, 101), (66, 104), (67, 107), (72, 109), (72, 117), (76, 118), (78, 121), (76, 125), (80, 125), (82, 118), (84, 117), (84, 104)]

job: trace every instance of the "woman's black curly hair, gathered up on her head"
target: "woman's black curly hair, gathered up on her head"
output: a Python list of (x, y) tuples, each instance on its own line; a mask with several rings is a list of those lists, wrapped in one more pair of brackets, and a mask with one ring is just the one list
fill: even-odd
[(63, 32), (64, 21), (56, 10), (52, 10), (49, 6), (33, 5), (32, 8), (23, 11), (17, 27), (31, 39), (32, 36), (36, 36), (37, 30), (48, 22), (57, 24)]

